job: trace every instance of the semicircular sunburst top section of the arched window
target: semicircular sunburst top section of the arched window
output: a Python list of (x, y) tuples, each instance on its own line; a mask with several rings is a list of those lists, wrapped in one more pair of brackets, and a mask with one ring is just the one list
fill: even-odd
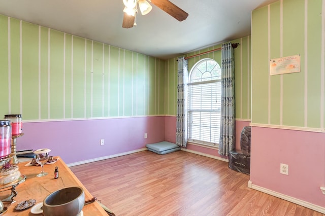
[(192, 67), (189, 76), (189, 83), (198, 83), (221, 79), (221, 68), (218, 62), (211, 58), (198, 61)]

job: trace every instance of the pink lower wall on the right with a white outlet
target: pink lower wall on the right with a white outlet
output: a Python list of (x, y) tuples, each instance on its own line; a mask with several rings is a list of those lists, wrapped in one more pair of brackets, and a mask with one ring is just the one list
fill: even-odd
[[(324, 140), (324, 133), (252, 127), (252, 184), (325, 207)], [(280, 174), (280, 163), (289, 175)]]

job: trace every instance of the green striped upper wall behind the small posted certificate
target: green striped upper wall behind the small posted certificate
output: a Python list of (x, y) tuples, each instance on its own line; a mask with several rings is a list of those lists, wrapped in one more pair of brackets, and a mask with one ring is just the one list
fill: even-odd
[[(252, 123), (324, 128), (322, 1), (285, 0), (252, 12)], [(323, 35), (324, 36), (324, 35)], [(299, 73), (269, 75), (269, 61), (301, 56)]]

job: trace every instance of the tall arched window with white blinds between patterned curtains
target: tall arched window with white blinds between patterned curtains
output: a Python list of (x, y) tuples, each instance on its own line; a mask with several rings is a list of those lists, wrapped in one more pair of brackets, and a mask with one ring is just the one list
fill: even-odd
[(188, 78), (188, 141), (218, 146), (220, 136), (221, 68), (202, 59)]

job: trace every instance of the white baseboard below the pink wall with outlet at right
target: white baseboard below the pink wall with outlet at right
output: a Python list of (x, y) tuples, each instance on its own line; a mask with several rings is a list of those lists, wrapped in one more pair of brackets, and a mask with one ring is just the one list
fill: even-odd
[(310, 209), (312, 209), (314, 211), (318, 211), (318, 212), (323, 213), (323, 214), (325, 213), (325, 207), (315, 205), (315, 204), (312, 204), (310, 202), (306, 202), (304, 200), (297, 199), (295, 197), (290, 197), (290, 196), (287, 196), (285, 194), (281, 194), (281, 193), (269, 190), (267, 188), (263, 188), (263, 187), (254, 185), (254, 184), (252, 184), (252, 182), (250, 180), (248, 181), (248, 188), (254, 189), (256, 191), (261, 191), (261, 192), (266, 193), (266, 194), (270, 194), (272, 196), (284, 199), (284, 200), (289, 201), (289, 202), (293, 202), (295, 204), (304, 206), (306, 208), (310, 208)]

